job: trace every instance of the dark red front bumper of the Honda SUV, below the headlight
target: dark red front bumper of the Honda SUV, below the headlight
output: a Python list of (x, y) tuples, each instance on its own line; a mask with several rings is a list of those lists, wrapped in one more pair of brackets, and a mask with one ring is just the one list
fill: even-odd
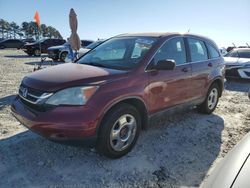
[(85, 140), (96, 138), (98, 119), (86, 106), (61, 106), (39, 112), (17, 96), (11, 105), (13, 116), (33, 132), (48, 139)]

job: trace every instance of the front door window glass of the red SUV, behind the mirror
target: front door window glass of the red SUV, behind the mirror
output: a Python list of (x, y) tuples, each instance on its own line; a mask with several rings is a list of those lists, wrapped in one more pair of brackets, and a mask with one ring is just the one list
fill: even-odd
[(174, 60), (176, 65), (186, 63), (186, 51), (183, 38), (173, 38), (167, 41), (155, 54), (154, 64), (160, 60)]

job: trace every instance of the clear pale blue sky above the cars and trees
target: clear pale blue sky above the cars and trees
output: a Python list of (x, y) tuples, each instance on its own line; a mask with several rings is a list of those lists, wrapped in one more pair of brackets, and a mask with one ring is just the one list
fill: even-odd
[(219, 47), (250, 45), (250, 0), (0, 0), (0, 18), (21, 24), (33, 21), (37, 10), (41, 23), (67, 38), (70, 8), (81, 39), (189, 30)]

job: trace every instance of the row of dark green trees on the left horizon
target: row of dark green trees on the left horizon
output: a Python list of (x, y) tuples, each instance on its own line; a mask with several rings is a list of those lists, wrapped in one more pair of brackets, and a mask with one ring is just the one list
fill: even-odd
[(0, 19), (0, 38), (34, 38), (38, 40), (39, 37), (62, 39), (60, 32), (52, 26), (41, 24), (39, 28), (33, 21), (18, 25), (15, 22)]

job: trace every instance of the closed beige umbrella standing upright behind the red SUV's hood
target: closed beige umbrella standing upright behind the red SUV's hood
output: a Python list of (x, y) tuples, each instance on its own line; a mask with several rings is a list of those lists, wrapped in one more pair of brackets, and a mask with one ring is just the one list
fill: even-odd
[(74, 9), (70, 9), (69, 13), (69, 25), (71, 29), (71, 35), (69, 38), (70, 46), (73, 50), (78, 51), (81, 47), (81, 41), (77, 34), (77, 17)]

